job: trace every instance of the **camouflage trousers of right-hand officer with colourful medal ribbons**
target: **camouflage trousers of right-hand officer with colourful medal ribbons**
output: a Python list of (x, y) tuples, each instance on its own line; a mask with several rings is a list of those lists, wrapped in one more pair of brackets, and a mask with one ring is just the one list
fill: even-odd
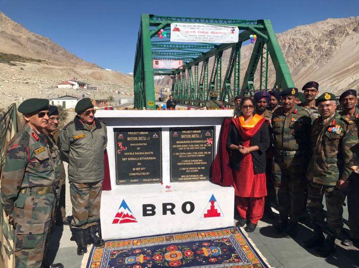
[(309, 183), (307, 210), (314, 230), (324, 230), (325, 214), (323, 212), (323, 196), (327, 206), (328, 231), (338, 237), (343, 228), (343, 203), (345, 192), (335, 186), (323, 185), (315, 182)]

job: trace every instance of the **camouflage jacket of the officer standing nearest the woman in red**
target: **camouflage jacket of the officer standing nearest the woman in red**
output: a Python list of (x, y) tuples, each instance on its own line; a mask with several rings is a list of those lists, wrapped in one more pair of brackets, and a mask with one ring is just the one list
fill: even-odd
[(310, 114), (301, 107), (295, 105), (288, 115), (283, 107), (276, 109), (272, 116), (275, 151), (308, 152), (310, 126)]

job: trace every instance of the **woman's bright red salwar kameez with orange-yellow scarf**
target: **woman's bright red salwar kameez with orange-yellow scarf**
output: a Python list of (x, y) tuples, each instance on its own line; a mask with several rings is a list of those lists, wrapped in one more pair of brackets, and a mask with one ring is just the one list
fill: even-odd
[[(243, 139), (242, 145), (249, 147), (250, 138), (260, 130), (265, 119), (255, 114), (247, 123), (243, 116), (234, 118), (232, 121)], [(233, 170), (233, 180), (238, 213), (242, 218), (257, 224), (264, 213), (264, 197), (267, 195), (266, 174), (254, 174), (251, 153), (242, 158), (239, 170)]]

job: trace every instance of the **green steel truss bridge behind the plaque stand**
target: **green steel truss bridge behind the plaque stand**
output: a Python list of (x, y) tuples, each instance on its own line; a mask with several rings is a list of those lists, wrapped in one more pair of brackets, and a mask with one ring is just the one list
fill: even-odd
[[(197, 23), (220, 26), (237, 26), (240, 30), (237, 43), (174, 43), (170, 38), (160, 39), (157, 32), (170, 33), (171, 23)], [(255, 34), (257, 39), (242, 86), (241, 47)], [(230, 50), (227, 69), (222, 69), (222, 55)], [(220, 89), (220, 100), (227, 105), (237, 94), (253, 94), (256, 89), (267, 89), (268, 54), (275, 69), (272, 87), (294, 87), (281, 48), (268, 19), (243, 20), (200, 17), (173, 17), (142, 14), (134, 61), (134, 107), (155, 109), (154, 75), (170, 75), (171, 93), (179, 104), (204, 106), (211, 90)], [(210, 68), (209, 59), (213, 57)], [(153, 69), (153, 59), (182, 59), (183, 69)], [(259, 71), (259, 85), (254, 87), (254, 74)], [(210, 70), (211, 69), (211, 70)], [(225, 72), (225, 73), (224, 73)], [(225, 74), (224, 78), (223, 75)], [(232, 84), (232, 85), (231, 85)]]

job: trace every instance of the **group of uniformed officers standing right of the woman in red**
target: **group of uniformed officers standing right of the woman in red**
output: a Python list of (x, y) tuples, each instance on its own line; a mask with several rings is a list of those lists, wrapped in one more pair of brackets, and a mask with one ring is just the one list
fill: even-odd
[[(327, 257), (335, 252), (335, 238), (343, 228), (346, 196), (350, 239), (342, 244), (359, 247), (359, 109), (355, 90), (340, 96), (343, 109), (337, 111), (335, 95), (317, 96), (318, 89), (319, 84), (310, 81), (303, 93), (296, 88), (261, 91), (255, 93), (254, 102), (272, 137), (265, 214), (272, 217), (270, 203), (276, 203), (279, 219), (273, 228), (294, 237), (298, 221), (308, 213), (313, 237), (303, 246)], [(241, 96), (234, 99), (235, 116), (241, 115), (240, 101)]]

